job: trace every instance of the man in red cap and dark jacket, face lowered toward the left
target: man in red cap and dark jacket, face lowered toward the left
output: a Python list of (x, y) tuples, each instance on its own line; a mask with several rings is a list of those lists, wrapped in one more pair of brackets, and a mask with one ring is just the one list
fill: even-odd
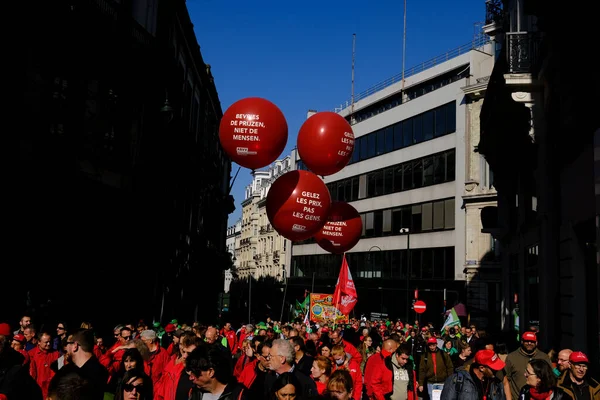
[(457, 368), (444, 382), (441, 398), (444, 400), (504, 400), (504, 385), (496, 373), (504, 362), (493, 350), (479, 350), (473, 363)]

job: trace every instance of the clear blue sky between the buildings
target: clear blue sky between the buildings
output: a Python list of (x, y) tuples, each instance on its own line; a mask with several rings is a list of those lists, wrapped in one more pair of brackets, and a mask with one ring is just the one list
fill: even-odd
[[(404, 2), (187, 0), (204, 61), (212, 67), (223, 112), (245, 97), (263, 97), (286, 117), (283, 156), (296, 145), (309, 109), (333, 111), (352, 93), (352, 35), (356, 34), (354, 92), (402, 71)], [(473, 39), (485, 0), (407, 0), (406, 69)], [(232, 165), (232, 176), (238, 165)], [(233, 185), (241, 216), (242, 168)]]

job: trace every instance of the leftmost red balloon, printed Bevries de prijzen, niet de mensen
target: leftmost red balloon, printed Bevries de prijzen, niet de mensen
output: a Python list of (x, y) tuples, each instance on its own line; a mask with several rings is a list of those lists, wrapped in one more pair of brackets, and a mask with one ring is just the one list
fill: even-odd
[(234, 162), (252, 170), (275, 161), (287, 137), (287, 122), (281, 110), (260, 97), (233, 103), (219, 125), (219, 140), (225, 152)]

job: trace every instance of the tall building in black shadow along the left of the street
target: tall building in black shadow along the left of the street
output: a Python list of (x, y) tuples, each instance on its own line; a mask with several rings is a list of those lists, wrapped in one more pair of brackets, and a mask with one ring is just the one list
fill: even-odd
[(231, 163), (185, 2), (34, 3), (0, 319), (216, 315)]

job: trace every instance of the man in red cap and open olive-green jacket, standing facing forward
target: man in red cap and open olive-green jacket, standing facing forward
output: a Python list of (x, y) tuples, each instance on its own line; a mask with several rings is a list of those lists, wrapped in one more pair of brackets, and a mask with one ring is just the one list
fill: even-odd
[(535, 332), (525, 332), (521, 337), (521, 347), (506, 357), (506, 377), (504, 378), (504, 392), (507, 400), (517, 400), (521, 388), (525, 386), (525, 370), (532, 359), (546, 361), (552, 367), (548, 354), (537, 348)]

